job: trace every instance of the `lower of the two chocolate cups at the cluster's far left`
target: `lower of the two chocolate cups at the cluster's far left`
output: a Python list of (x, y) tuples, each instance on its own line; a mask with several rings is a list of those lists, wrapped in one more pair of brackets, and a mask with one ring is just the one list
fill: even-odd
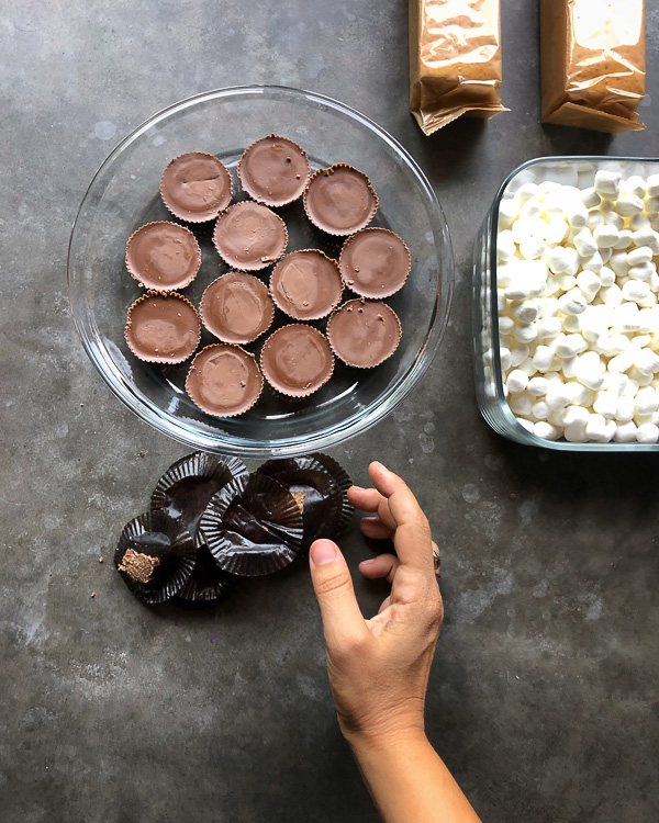
[(125, 339), (147, 363), (182, 363), (192, 357), (201, 336), (197, 309), (177, 292), (149, 291), (129, 308)]

